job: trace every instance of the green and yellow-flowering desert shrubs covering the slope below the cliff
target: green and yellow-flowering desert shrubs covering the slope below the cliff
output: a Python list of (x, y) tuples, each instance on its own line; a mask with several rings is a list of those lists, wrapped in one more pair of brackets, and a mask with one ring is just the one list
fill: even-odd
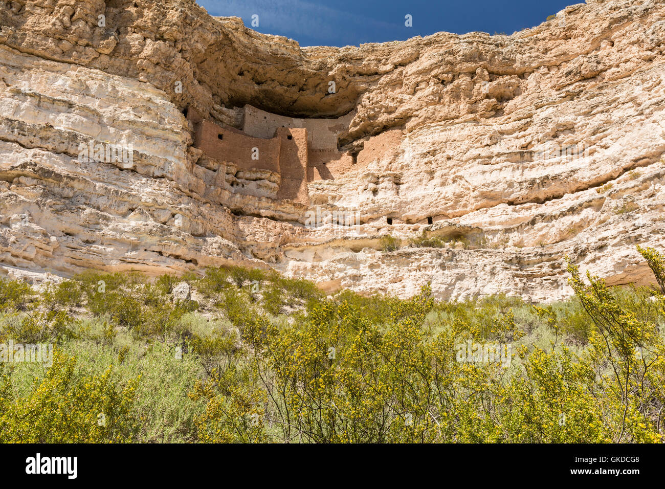
[(0, 362), (0, 442), (660, 442), (665, 262), (638, 251), (658, 287), (569, 264), (575, 297), (547, 305), (239, 267), (0, 281), (0, 343), (55, 345)]

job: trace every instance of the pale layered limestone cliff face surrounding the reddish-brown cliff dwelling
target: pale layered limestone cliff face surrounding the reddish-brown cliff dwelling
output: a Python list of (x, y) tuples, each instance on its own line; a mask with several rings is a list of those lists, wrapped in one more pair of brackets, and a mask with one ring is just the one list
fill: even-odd
[[(569, 255), (644, 282), (634, 245), (665, 246), (664, 50), (657, 0), (341, 49), (186, 0), (0, 1), (0, 266), (43, 279), (238, 263), (329, 289), (551, 300), (570, 293)], [(211, 158), (184, 115), (265, 137), (254, 107), (293, 127), (338, 119), (337, 148), (310, 147), (304, 200)], [(422, 232), (458, 244), (408, 246)], [(388, 233), (404, 247), (378, 251)]]

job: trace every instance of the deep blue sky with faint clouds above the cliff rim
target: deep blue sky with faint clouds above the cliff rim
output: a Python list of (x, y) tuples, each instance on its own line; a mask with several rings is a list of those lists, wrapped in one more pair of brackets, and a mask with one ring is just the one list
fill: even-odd
[[(242, 17), (261, 33), (301, 46), (346, 46), (403, 41), (440, 31), (490, 34), (535, 27), (582, 0), (197, 0), (210, 15)], [(259, 26), (252, 27), (252, 15)], [(412, 15), (413, 27), (404, 16)]]

